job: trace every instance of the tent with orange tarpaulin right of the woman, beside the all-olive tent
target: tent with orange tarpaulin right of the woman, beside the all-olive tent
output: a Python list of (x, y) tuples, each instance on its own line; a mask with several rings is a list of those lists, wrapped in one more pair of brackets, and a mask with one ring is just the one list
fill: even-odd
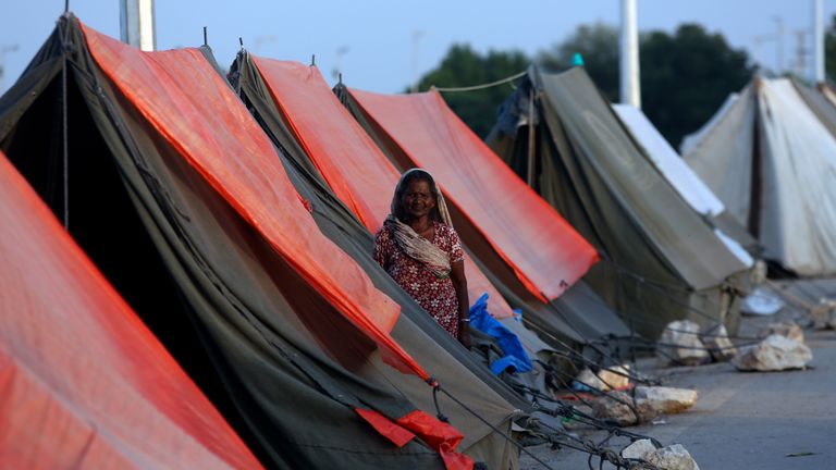
[[(583, 283), (569, 285), (582, 271), (576, 264), (561, 264), (561, 257), (590, 256), (586, 242), (509, 172), (438, 94), (385, 96), (344, 87), (336, 92), (391, 163), (402, 171), (422, 166), (437, 175), (451, 201), (456, 230), (477, 264), (513, 307), (524, 309), (524, 320), (534, 331), (557, 344), (565, 337), (586, 343), (629, 335)], [(511, 210), (508, 201), (526, 210)], [(527, 233), (538, 236), (527, 237)], [(524, 282), (536, 276), (526, 274), (524, 263), (515, 268), (511, 260), (539, 257), (539, 263), (548, 264), (550, 252), (561, 253), (550, 269), (566, 273), (561, 274), (563, 284), (558, 283), (562, 295), (544, 302), (549, 297), (544, 290)]]

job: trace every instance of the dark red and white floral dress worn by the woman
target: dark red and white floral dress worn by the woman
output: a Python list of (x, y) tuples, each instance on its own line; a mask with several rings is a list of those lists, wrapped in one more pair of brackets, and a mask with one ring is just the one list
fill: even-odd
[[(464, 260), (456, 231), (440, 222), (433, 222), (433, 225), (432, 244), (450, 256), (451, 264)], [(385, 225), (374, 235), (374, 260), (447, 333), (458, 337), (458, 297), (448, 275), (439, 279), (426, 264), (406, 256)]]

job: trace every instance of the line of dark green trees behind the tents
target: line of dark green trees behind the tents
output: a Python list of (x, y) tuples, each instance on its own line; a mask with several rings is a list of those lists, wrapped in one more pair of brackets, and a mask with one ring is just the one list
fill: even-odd
[[(836, 15), (825, 32), (826, 74), (836, 78)], [(561, 72), (580, 53), (585, 69), (601, 91), (618, 101), (618, 29), (606, 24), (581, 25), (562, 42), (534, 57), (521, 51), (479, 53), (466, 44), (453, 45), (441, 63), (421, 77), (419, 90), (431, 86), (460, 87), (495, 82), (536, 63)], [(642, 111), (662, 135), (678, 147), (720, 108), (728, 94), (739, 91), (755, 73), (742, 49), (699, 24), (683, 24), (673, 33), (652, 30), (639, 37)], [(456, 114), (481, 137), (493, 126), (499, 107), (513, 83), (476, 91), (444, 94)]]

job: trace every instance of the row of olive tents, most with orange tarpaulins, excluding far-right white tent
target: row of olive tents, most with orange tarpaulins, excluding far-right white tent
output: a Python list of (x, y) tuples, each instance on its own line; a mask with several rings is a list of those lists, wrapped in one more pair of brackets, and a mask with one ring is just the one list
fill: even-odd
[[(735, 330), (758, 244), (654, 132), (582, 69), (531, 69), (484, 144), (435, 91), (332, 91), (246, 52), (225, 75), (64, 15), (0, 98), (0, 460), (515, 468), (520, 389), (564, 381), (550, 359), (616, 361), (601, 346), (683, 318)], [(492, 373), (372, 260), (415, 166), (532, 372)]]

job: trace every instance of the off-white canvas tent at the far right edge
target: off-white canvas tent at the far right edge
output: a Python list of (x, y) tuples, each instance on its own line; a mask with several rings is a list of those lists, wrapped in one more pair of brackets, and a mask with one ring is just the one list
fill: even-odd
[(763, 257), (800, 275), (836, 273), (833, 114), (819, 90), (755, 78), (683, 147)]

